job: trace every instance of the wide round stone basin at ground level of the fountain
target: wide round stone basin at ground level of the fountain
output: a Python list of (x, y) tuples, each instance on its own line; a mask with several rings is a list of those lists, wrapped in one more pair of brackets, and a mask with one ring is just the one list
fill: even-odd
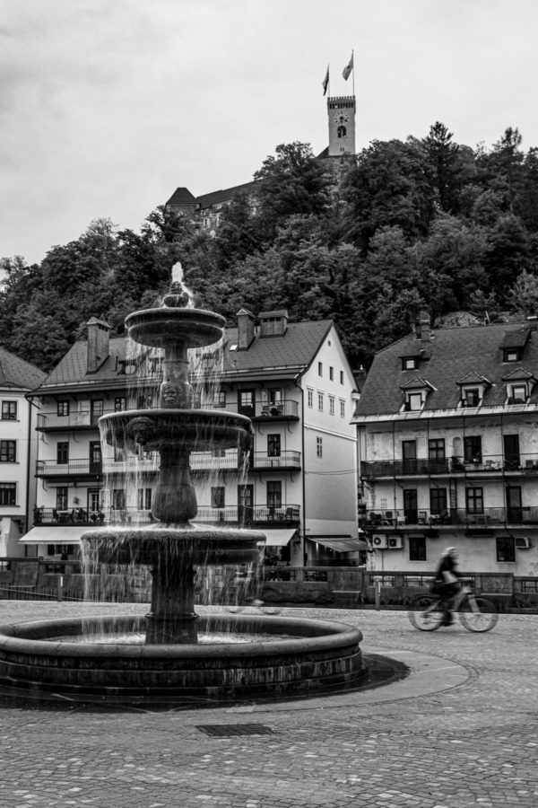
[(353, 686), (364, 675), (358, 628), (259, 614), (204, 615), (200, 630), (289, 635), (218, 645), (68, 642), (82, 634), (144, 630), (144, 618), (46, 620), (0, 627), (0, 686), (43, 698), (132, 704), (285, 696)]

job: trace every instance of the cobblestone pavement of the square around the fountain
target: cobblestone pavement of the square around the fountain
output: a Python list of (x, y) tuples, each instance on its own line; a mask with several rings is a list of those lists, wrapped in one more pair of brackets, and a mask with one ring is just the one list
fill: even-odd
[[(91, 606), (93, 613), (143, 607)], [(59, 603), (0, 602), (0, 623), (74, 616)], [(259, 706), (91, 711), (0, 708), (0, 808), (466, 808), (538, 805), (537, 615), (489, 634), (421, 633), (401, 611), (283, 610), (341, 619), (365, 653), (428, 654), (468, 676), (416, 695), (385, 688)], [(411, 652), (411, 654), (410, 654)], [(417, 656), (417, 658), (418, 658)], [(412, 663), (411, 663), (412, 667)], [(199, 725), (270, 733), (213, 737)]]

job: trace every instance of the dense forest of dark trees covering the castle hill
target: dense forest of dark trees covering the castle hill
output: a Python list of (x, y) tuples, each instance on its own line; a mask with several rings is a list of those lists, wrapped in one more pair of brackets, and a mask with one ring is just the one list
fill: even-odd
[(341, 164), (280, 145), (212, 237), (160, 206), (139, 233), (107, 219), (40, 264), (0, 260), (0, 345), (44, 370), (92, 315), (121, 334), (159, 300), (180, 260), (196, 304), (334, 318), (351, 363), (412, 329), (538, 313), (538, 148), (508, 128), (486, 148), (441, 123), (405, 142), (374, 141)]

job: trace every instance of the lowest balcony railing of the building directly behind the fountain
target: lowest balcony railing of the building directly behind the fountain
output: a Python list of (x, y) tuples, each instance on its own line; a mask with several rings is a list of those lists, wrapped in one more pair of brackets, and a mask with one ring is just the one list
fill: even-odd
[[(139, 508), (35, 508), (34, 525), (66, 524), (100, 525), (100, 524), (149, 524), (154, 522), (151, 511)], [(298, 524), (300, 521), (299, 505), (283, 504), (279, 507), (270, 505), (231, 505), (225, 508), (213, 508), (211, 505), (200, 505), (194, 522), (211, 524), (256, 525)]]

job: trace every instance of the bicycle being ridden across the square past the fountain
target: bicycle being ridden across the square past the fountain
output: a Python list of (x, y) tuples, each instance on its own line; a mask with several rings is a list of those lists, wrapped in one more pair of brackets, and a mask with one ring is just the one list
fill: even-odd
[[(409, 610), (409, 619), (414, 628), (420, 631), (435, 631), (439, 628), (445, 617), (440, 603), (441, 599), (433, 594), (415, 598)], [(482, 595), (475, 595), (468, 586), (462, 586), (456, 593), (450, 604), (450, 611), (459, 614), (467, 631), (490, 631), (499, 619), (495, 604)]]

